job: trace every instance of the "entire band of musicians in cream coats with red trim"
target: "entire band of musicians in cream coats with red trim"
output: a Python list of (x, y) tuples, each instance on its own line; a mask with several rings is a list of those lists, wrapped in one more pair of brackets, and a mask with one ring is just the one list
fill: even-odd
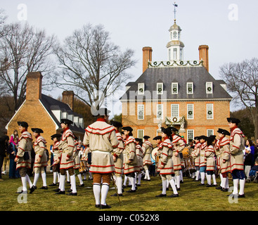
[[(65, 194), (65, 177), (70, 180), (71, 187), (67, 195), (77, 195), (76, 176), (79, 179), (79, 186), (84, 186), (82, 176), (86, 179), (89, 173), (93, 179), (93, 195), (96, 207), (110, 208), (105, 200), (108, 195), (110, 181), (113, 180), (117, 193), (112, 196), (122, 196), (124, 186), (129, 180), (131, 189), (127, 193), (134, 193), (137, 186), (141, 186), (141, 179), (150, 181), (149, 166), (156, 162), (156, 172), (162, 180), (162, 193), (157, 198), (167, 196), (167, 188), (172, 187), (173, 194), (170, 198), (179, 197), (180, 184), (183, 181), (183, 169), (188, 169), (190, 176), (195, 181), (200, 181), (200, 186), (217, 186), (216, 171), (219, 171), (221, 184), (217, 189), (228, 191), (228, 174), (233, 178), (233, 195), (238, 198), (245, 197), (245, 174), (243, 163), (243, 149), (245, 139), (243, 132), (238, 128), (240, 120), (227, 118), (231, 133), (225, 129), (219, 129), (216, 136), (196, 136), (193, 150), (188, 157), (182, 158), (182, 151), (186, 143), (177, 134), (174, 127), (162, 127), (161, 136), (155, 136), (153, 140), (157, 147), (148, 141), (150, 136), (143, 139), (134, 139), (131, 127), (123, 127), (120, 122), (110, 121), (110, 111), (101, 108), (95, 114), (96, 122), (85, 129), (84, 140), (77, 141), (69, 126), (72, 121), (62, 119), (60, 121), (63, 134), (53, 134), (53, 184), (57, 195)], [(27, 169), (31, 167), (32, 135), (27, 128), (27, 122), (18, 122), (19, 130), (22, 133), (18, 144), (18, 153), (15, 158), (17, 169), (19, 169), (22, 191), (27, 193), (27, 183), (30, 186), (30, 193), (37, 188), (37, 181), (41, 174), (43, 181), (42, 189), (47, 189), (46, 172), (46, 140), (39, 128), (32, 128), (34, 141), (34, 181), (30, 181)], [(120, 133), (120, 129), (122, 132)], [(124, 183), (123, 177), (124, 175)], [(238, 192), (239, 186), (239, 192)]]

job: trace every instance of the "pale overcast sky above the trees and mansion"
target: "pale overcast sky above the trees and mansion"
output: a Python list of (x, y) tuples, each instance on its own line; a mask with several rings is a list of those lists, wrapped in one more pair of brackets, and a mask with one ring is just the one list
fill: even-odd
[[(142, 74), (143, 46), (153, 48), (153, 60), (167, 60), (174, 1), (0, 0), (0, 3), (8, 16), (6, 23), (20, 21), (26, 6), (26, 21), (45, 29), (49, 35), (56, 34), (60, 41), (84, 24), (104, 25), (112, 42), (122, 50), (135, 51), (138, 63), (129, 71), (134, 75), (131, 81)], [(198, 46), (207, 44), (209, 73), (220, 79), (219, 67), (224, 63), (257, 57), (257, 0), (180, 0), (176, 4), (176, 23), (181, 27), (181, 41), (185, 44), (183, 60), (198, 60)]]

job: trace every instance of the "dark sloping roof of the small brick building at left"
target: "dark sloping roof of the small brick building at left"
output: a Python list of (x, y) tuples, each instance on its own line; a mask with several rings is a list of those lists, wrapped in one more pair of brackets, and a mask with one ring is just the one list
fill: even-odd
[[(53, 120), (58, 124), (58, 127), (61, 129), (60, 121), (56, 118), (55, 115), (53, 115), (51, 110), (60, 110), (61, 112), (67, 112), (70, 115), (75, 115), (78, 117), (82, 117), (82, 115), (79, 115), (78, 113), (75, 113), (71, 110), (70, 106), (66, 103), (63, 103), (62, 101), (58, 101), (55, 98), (51, 98), (50, 96), (46, 96), (44, 94), (41, 94), (41, 103), (44, 105), (46, 110), (48, 111), (49, 115), (53, 118)], [(74, 123), (70, 125), (70, 129), (72, 131), (82, 132), (84, 133), (84, 128), (77, 127), (77, 125)]]

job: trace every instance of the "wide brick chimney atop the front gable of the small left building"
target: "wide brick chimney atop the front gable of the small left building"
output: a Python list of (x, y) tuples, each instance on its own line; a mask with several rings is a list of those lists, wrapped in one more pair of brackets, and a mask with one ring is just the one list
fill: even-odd
[(26, 101), (38, 101), (41, 99), (41, 72), (29, 72), (27, 74)]

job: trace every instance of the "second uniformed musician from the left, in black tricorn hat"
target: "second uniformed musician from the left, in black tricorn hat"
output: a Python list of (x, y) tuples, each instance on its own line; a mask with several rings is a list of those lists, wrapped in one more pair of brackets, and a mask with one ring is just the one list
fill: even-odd
[(34, 161), (34, 181), (33, 186), (30, 188), (30, 193), (35, 191), (37, 188), (37, 181), (39, 180), (39, 174), (41, 173), (41, 178), (43, 181), (43, 186), (41, 189), (47, 189), (46, 186), (46, 172), (45, 167), (48, 165), (47, 155), (46, 155), (46, 140), (41, 134), (43, 133), (42, 129), (32, 128), (32, 135), (36, 138), (34, 141), (34, 152), (35, 152), (35, 161)]

